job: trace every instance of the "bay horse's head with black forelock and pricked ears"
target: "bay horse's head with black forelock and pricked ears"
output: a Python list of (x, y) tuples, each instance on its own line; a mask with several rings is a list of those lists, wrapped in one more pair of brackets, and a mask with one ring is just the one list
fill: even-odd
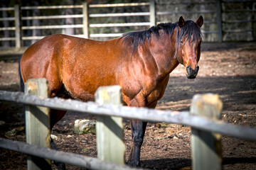
[(198, 61), (201, 55), (201, 26), (203, 17), (198, 20), (184, 21), (181, 16), (178, 20), (178, 33), (176, 36), (176, 57), (178, 62), (186, 67), (186, 77), (195, 79), (198, 74)]

